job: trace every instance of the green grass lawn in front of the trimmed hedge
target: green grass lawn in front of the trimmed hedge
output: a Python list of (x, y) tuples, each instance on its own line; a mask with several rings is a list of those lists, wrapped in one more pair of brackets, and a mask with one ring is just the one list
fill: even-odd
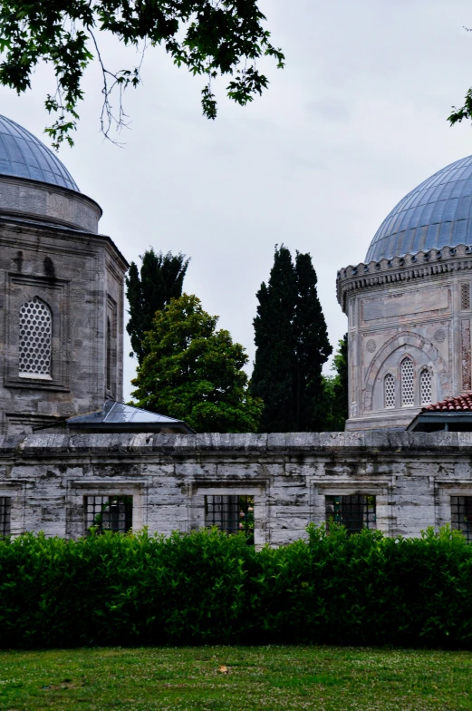
[(2, 710), (114, 708), (472, 709), (472, 653), (334, 647), (0, 652)]

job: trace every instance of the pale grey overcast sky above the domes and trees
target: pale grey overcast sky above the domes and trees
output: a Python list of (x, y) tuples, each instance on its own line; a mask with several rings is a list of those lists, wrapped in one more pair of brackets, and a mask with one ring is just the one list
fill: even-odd
[[(129, 260), (149, 245), (191, 257), (185, 290), (254, 357), (255, 292), (275, 244), (309, 251), (333, 346), (346, 330), (339, 268), (363, 260), (390, 209), (420, 181), (472, 153), (452, 104), (472, 85), (470, 0), (265, 0), (284, 71), (245, 108), (219, 83), (217, 121), (201, 116), (201, 80), (149, 51), (144, 85), (125, 98), (123, 149), (99, 132), (101, 77), (86, 76), (75, 146), (59, 157), (103, 209), (101, 232)], [(111, 67), (132, 51), (102, 39)], [(0, 89), (0, 112), (48, 144), (40, 69), (33, 91)], [(133, 362), (125, 345), (125, 397)]]

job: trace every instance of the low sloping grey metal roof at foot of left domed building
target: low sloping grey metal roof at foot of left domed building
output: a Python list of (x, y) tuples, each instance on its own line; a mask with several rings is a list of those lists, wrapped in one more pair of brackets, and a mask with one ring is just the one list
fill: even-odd
[(140, 407), (106, 400), (100, 410), (67, 420), (67, 428), (95, 432), (181, 432), (193, 433), (188, 424), (165, 414), (149, 413)]

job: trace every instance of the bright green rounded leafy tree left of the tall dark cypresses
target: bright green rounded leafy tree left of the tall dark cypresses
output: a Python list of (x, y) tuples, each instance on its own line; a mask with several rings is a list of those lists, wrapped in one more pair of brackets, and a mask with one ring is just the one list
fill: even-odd
[(187, 294), (158, 311), (132, 395), (138, 406), (197, 432), (255, 432), (262, 402), (248, 392), (246, 351), (216, 330), (217, 320)]

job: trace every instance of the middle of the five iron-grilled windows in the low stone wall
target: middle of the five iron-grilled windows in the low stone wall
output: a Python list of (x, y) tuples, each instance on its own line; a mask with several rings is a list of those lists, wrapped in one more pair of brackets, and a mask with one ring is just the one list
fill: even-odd
[(254, 496), (206, 496), (205, 525), (226, 533), (243, 532), (247, 542), (254, 543)]

